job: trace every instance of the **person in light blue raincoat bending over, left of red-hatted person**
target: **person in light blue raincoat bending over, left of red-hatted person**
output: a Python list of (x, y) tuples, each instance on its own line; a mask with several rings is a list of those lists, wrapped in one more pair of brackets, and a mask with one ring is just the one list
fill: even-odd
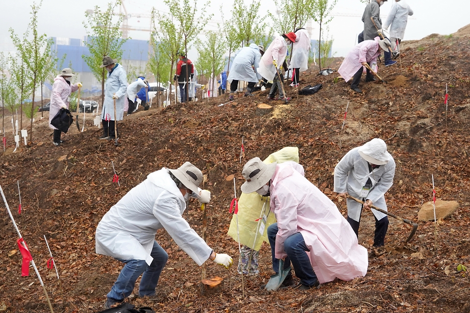
[(245, 97), (253, 96), (251, 93), (256, 83), (261, 79), (258, 73), (259, 61), (261, 60), (261, 52), (258, 45), (250, 44), (241, 48), (235, 55), (234, 62), (230, 67), (227, 81), (230, 84), (229, 100), (234, 100), (234, 93), (238, 88), (238, 82), (245, 81), (248, 83), (246, 87)]

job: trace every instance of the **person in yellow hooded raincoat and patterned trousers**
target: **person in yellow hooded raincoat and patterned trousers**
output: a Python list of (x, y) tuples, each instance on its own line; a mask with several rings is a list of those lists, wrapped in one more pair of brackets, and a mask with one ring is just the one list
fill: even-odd
[[(294, 161), (299, 163), (299, 148), (285, 147), (269, 155), (263, 162), (278, 164)], [(238, 200), (238, 230), (240, 234), (241, 256), (237, 271), (239, 274), (257, 275), (259, 249), (268, 242), (266, 229), (276, 223), (274, 214), (270, 214), (269, 197), (261, 197), (256, 192), (242, 193)], [(228, 235), (238, 242), (236, 219), (232, 218)]]

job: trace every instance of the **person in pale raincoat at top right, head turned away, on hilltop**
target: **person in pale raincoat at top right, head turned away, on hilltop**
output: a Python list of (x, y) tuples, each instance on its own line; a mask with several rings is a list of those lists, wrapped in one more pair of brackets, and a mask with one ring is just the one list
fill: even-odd
[(383, 24), (383, 29), (387, 30), (390, 26), (390, 41), (392, 50), (400, 52), (400, 43), (405, 35), (408, 15), (413, 15), (413, 10), (405, 0), (395, 0), (392, 9), (388, 14), (387, 21)]

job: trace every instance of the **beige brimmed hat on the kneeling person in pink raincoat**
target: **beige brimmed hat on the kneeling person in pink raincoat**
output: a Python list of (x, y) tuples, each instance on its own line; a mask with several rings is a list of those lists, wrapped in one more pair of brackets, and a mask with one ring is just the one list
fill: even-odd
[(249, 194), (265, 185), (274, 175), (278, 162), (266, 164), (259, 157), (254, 157), (243, 166), (241, 175), (246, 181), (241, 185), (241, 191)]

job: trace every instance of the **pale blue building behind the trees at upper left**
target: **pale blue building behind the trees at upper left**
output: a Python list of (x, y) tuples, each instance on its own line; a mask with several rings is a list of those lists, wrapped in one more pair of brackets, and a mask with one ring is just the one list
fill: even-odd
[[(77, 74), (74, 81), (81, 82), (83, 84), (82, 93), (83, 96), (98, 95), (101, 94), (101, 81), (98, 81), (88, 65), (82, 58), (82, 55), (89, 55), (90, 51), (85, 46), (84, 42), (88, 40), (88, 36), (85, 36), (83, 40), (76, 38), (57, 38), (52, 37), (53, 45), (51, 46), (51, 52), (57, 54), (58, 62), (57, 69), (59, 67), (71, 67), (73, 72)], [(122, 60), (119, 64), (122, 65), (128, 74), (139, 74), (145, 73), (148, 61), (149, 46), (146, 40), (135, 40), (128, 39), (122, 45)], [(62, 59), (64, 58), (62, 62)], [(133, 81), (136, 77), (131, 77)], [(45, 97), (50, 96), (50, 90), (52, 86), (50, 83), (45, 83), (45, 89), (43, 95)], [(48, 90), (47, 90), (48, 89)]]

